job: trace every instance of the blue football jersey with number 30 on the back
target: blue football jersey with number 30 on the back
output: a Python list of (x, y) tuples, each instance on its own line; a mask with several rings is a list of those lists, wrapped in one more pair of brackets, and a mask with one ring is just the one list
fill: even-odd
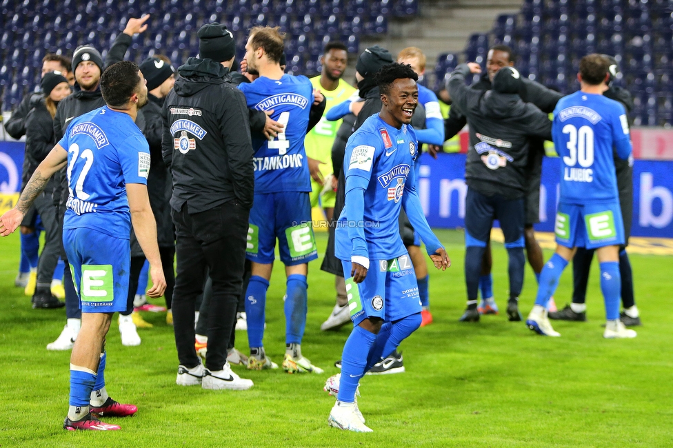
[(612, 149), (623, 159), (631, 152), (621, 103), (581, 91), (564, 96), (554, 109), (552, 137), (561, 157), (561, 201), (619, 200)]

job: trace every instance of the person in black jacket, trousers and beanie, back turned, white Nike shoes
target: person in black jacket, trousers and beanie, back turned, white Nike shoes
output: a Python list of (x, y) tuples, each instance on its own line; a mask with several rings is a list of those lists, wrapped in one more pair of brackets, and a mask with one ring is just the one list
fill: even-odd
[[(230, 83), (232, 32), (208, 23), (197, 33), (201, 59), (190, 58), (163, 105), (163, 159), (173, 176), (170, 199), (177, 241), (173, 323), (178, 385), (249, 389), (227, 362), (241, 294), (254, 173), (248, 108)], [(212, 280), (205, 369), (194, 349), (194, 304), (205, 269)]]

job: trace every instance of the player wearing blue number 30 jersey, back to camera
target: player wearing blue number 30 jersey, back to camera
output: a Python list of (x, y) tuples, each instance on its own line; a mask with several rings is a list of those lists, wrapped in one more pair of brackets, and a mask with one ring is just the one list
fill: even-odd
[(552, 328), (545, 305), (576, 247), (586, 247), (596, 249), (601, 263), (607, 317), (603, 337), (636, 337), (619, 320), (619, 245), (624, 243), (624, 224), (612, 150), (627, 159), (632, 148), (624, 106), (603, 96), (609, 65), (600, 54), (583, 57), (577, 75), (581, 90), (563, 97), (554, 110), (552, 136), (561, 157), (556, 253), (542, 269), (535, 305), (526, 320), (528, 328), (544, 336), (561, 336)]

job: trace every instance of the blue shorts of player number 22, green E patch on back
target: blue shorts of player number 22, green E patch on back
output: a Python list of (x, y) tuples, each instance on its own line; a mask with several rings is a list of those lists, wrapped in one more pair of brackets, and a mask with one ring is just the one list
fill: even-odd
[(63, 247), (82, 312), (125, 311), (131, 269), (128, 238), (114, 238), (85, 227), (63, 229)]

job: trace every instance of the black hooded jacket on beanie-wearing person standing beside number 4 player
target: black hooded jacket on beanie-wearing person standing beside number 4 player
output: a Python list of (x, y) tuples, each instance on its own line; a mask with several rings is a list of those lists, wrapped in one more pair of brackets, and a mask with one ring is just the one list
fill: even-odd
[(170, 205), (188, 212), (228, 201), (252, 207), (254, 172), (248, 106), (228, 70), (188, 59), (163, 104), (163, 161), (173, 176)]

